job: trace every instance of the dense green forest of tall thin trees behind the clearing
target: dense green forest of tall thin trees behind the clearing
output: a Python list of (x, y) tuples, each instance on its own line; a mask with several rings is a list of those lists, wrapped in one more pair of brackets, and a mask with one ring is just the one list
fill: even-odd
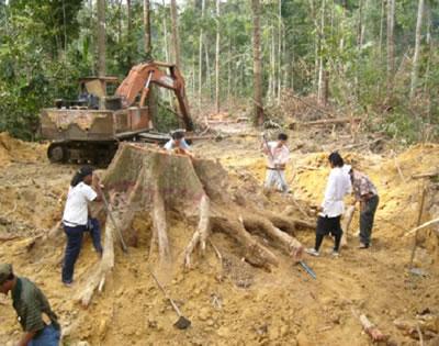
[(2, 0), (0, 27), (0, 131), (25, 139), (78, 78), (148, 59), (180, 67), (193, 114), (260, 124), (311, 97), (403, 144), (439, 135), (435, 0)]

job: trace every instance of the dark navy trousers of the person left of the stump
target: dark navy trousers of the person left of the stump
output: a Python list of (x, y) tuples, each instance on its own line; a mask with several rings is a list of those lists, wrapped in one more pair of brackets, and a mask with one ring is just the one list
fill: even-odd
[(81, 252), (83, 233), (90, 232), (95, 250), (102, 254), (101, 231), (98, 220), (90, 219), (89, 226), (69, 227), (64, 225), (64, 232), (67, 235), (67, 245), (63, 265), (63, 282), (69, 283), (74, 280), (75, 264)]

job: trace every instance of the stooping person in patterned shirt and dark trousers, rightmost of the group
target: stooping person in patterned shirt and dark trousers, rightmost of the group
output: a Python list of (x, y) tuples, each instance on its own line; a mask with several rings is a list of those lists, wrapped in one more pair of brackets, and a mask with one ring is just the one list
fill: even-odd
[(371, 245), (371, 235), (373, 219), (380, 198), (372, 181), (363, 172), (351, 169), (349, 171), (352, 182), (353, 196), (356, 198), (353, 205), (360, 202), (360, 246), (365, 249)]

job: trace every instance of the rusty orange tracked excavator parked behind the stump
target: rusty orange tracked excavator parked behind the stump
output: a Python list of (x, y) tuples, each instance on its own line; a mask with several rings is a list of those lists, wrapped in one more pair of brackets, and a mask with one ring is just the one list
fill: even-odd
[(125, 141), (162, 143), (166, 134), (154, 131), (146, 100), (150, 86), (172, 90), (179, 105), (179, 120), (185, 131), (194, 125), (189, 113), (184, 79), (173, 64), (147, 62), (134, 66), (117, 85), (116, 77), (87, 77), (79, 80), (77, 100), (55, 100), (55, 107), (41, 113), (41, 135), (50, 141), (52, 163), (108, 165), (119, 143)]

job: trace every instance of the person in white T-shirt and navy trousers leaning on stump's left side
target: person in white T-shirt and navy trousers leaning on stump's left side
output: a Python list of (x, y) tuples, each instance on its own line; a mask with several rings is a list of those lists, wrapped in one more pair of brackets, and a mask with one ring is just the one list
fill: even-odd
[(90, 166), (81, 167), (74, 176), (63, 214), (63, 226), (67, 235), (61, 280), (74, 282), (75, 263), (78, 259), (85, 232), (90, 232), (95, 250), (102, 255), (101, 230), (97, 219), (89, 217), (89, 202), (101, 200), (98, 176)]

